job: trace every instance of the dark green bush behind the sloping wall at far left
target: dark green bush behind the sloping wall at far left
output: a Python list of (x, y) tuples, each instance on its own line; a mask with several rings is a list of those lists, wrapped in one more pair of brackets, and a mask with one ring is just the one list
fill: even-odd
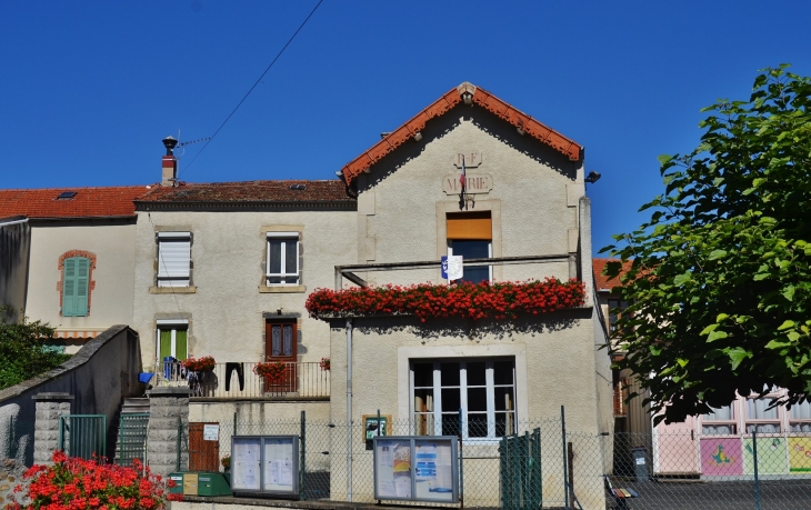
[(9, 307), (0, 307), (0, 389), (47, 372), (70, 356), (48, 349), (53, 328), (40, 321), (9, 322)]

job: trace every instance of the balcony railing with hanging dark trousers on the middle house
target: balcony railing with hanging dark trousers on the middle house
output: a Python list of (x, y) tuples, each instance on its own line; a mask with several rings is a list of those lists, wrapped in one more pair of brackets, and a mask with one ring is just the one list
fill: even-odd
[(216, 363), (206, 372), (183, 369), (180, 361), (158, 362), (152, 384), (188, 386), (192, 400), (329, 400), (330, 371), (319, 362), (281, 363), (276, 377), (258, 376), (258, 362)]

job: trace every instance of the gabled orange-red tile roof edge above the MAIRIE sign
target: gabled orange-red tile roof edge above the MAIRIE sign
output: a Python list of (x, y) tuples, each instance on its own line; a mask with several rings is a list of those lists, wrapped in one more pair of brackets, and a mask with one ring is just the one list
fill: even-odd
[(360, 154), (353, 161), (347, 163), (347, 166), (341, 170), (346, 181), (351, 183), (369, 167), (377, 163), (386, 154), (422, 131), (422, 129), (425, 128), (425, 122), (434, 117), (447, 113), (453, 107), (462, 102), (462, 97), (468, 93), (471, 94), (471, 99), (474, 104), (497, 114), (512, 126), (523, 130), (530, 137), (535, 138), (564, 156), (568, 156), (570, 160), (580, 160), (580, 154), (583, 149), (580, 144), (558, 131), (542, 124), (532, 117), (517, 110), (487, 90), (480, 89), (465, 81), (459, 87), (444, 93), (441, 98), (431, 103), (431, 106), (376, 143), (371, 149)]

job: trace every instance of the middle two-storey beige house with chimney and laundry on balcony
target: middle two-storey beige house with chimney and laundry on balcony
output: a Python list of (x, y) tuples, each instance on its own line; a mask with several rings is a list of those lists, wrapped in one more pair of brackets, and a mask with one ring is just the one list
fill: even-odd
[[(161, 186), (136, 201), (131, 324), (144, 367), (184, 383), (163, 359), (214, 358), (193, 397), (219, 403), (196, 403), (192, 421), (234, 411), (249, 419), (268, 406), (276, 418), (308, 409), (327, 420), (329, 373), (319, 363), (330, 356), (329, 326), (310, 319), (304, 301), (332, 286), (337, 263), (357, 259), (356, 199), (339, 180), (181, 183), (172, 142), (164, 140)], [(268, 361), (287, 363), (282, 384), (264, 387), (253, 373)]]

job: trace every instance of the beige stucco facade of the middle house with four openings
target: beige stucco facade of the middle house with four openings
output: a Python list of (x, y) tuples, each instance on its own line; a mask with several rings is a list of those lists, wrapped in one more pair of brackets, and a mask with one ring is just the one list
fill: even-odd
[[(353, 211), (140, 211), (132, 326), (141, 334), (146, 367), (157, 356), (159, 320), (188, 320), (189, 356), (217, 362), (264, 360), (267, 319), (299, 324), (299, 361), (329, 356), (329, 327), (310, 319), (307, 293), (331, 287), (333, 266), (357, 259)], [(191, 286), (157, 288), (156, 233), (191, 232)], [(267, 288), (267, 232), (298, 232), (301, 282)], [(248, 374), (246, 374), (248, 376)], [(252, 376), (252, 374), (251, 374)]]

